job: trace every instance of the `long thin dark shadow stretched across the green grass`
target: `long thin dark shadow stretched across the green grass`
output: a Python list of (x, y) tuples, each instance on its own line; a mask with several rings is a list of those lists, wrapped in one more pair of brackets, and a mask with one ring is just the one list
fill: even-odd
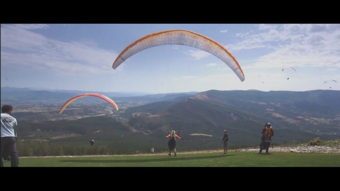
[(218, 156), (200, 156), (200, 157), (167, 157), (167, 158), (153, 158), (153, 159), (113, 159), (113, 160), (60, 160), (60, 162), (106, 162), (106, 163), (117, 163), (117, 162), (165, 162), (165, 161), (180, 161), (180, 160), (199, 160), (209, 158), (221, 158), (230, 157), (235, 155), (218, 155)]

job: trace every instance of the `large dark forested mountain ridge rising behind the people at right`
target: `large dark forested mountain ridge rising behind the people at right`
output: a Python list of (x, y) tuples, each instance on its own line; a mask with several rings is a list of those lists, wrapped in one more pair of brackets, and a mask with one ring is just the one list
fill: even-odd
[(258, 140), (270, 122), (280, 142), (340, 138), (340, 91), (210, 90), (129, 108), (126, 117), (130, 126), (150, 135), (174, 129), (221, 136), (228, 129), (233, 139), (244, 143)]

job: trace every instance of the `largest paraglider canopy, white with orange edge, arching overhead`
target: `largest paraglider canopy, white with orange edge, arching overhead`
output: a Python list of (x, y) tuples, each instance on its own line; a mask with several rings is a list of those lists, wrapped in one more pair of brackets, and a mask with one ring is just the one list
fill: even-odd
[(139, 38), (118, 55), (112, 68), (116, 69), (126, 59), (142, 50), (161, 45), (185, 45), (204, 50), (221, 59), (235, 72), (241, 82), (244, 81), (241, 66), (224, 46), (209, 37), (187, 30), (166, 30)]

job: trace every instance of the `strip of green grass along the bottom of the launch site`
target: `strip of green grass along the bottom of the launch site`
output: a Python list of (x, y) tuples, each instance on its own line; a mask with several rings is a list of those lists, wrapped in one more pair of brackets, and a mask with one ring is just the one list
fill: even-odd
[[(10, 167), (5, 162), (5, 167)], [(340, 154), (256, 152), (19, 158), (20, 167), (340, 167)]]

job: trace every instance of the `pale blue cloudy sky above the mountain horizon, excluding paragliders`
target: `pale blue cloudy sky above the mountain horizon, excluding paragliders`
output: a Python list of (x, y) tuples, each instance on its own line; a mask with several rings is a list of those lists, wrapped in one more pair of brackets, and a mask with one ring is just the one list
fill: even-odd
[[(214, 55), (182, 45), (143, 50), (112, 69), (126, 46), (169, 29), (222, 44), (245, 81)], [(282, 71), (287, 66), (296, 72)], [(338, 83), (324, 84), (331, 79)], [(89, 93), (340, 90), (340, 24), (1, 24), (4, 86)]]

